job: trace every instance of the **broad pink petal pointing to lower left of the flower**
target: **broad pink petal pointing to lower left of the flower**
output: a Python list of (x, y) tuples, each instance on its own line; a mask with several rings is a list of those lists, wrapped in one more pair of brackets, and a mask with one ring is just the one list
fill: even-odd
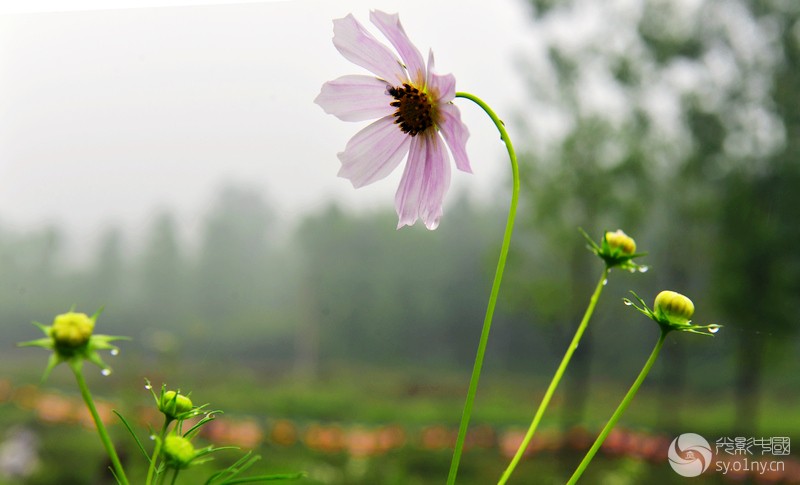
[(408, 153), (411, 137), (400, 131), (393, 116), (370, 124), (347, 142), (339, 153), (339, 176), (363, 187), (389, 175)]

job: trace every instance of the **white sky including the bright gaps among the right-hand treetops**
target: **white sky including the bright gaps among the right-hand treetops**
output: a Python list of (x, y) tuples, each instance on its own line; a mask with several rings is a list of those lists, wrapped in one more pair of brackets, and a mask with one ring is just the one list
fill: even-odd
[[(726, 5), (715, 25), (730, 31), (736, 52), (677, 63), (646, 93), (658, 138), (676, 153), (685, 145), (682, 93), (724, 90), (737, 79), (737, 56), (774, 57), (769, 26)], [(677, 8), (692, 18), (699, 3)], [(519, 151), (557, 142), (574, 116), (546, 100), (557, 91), (547, 46), (638, 52), (643, 1), (579, 0), (534, 24), (525, 0), (0, 0), (0, 229), (57, 224), (86, 255), (109, 224), (140, 240), (170, 210), (191, 241), (226, 185), (259, 191), (284, 228), (332, 201), (390, 208), (402, 170), (358, 190), (336, 176), (337, 152), (367, 122), (342, 122), (313, 103), (325, 81), (367, 73), (333, 47), (332, 19), (352, 13), (381, 39), (371, 9), (400, 13), (419, 49), (434, 51), (437, 70), (505, 119)], [(622, 119), (630, 107), (606, 71), (602, 57), (584, 60), (580, 103)], [(456, 194), (503, 206), (510, 192), (496, 128), (471, 102), (456, 103), (474, 174), (453, 170), (442, 224)], [(780, 133), (763, 113), (733, 115), (758, 122), (750, 133)], [(780, 143), (761, 138), (755, 145)]]

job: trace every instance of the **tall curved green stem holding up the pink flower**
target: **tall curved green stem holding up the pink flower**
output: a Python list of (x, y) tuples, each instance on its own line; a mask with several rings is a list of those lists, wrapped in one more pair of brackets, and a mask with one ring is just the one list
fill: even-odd
[(508, 257), (508, 247), (511, 244), (511, 234), (514, 231), (514, 219), (517, 214), (517, 202), (519, 200), (519, 167), (517, 165), (517, 155), (514, 152), (514, 146), (511, 144), (511, 138), (506, 132), (506, 127), (500, 118), (492, 111), (492, 109), (477, 96), (469, 93), (456, 93), (457, 98), (465, 98), (474, 102), (489, 115), (492, 119), (497, 130), (500, 132), (500, 138), (506, 145), (508, 150), (508, 157), (511, 160), (512, 172), (512, 191), (511, 191), (511, 205), (508, 209), (508, 219), (506, 221), (506, 229), (503, 234), (503, 244), (500, 248), (500, 257), (497, 261), (497, 269), (494, 274), (494, 282), (492, 283), (492, 290), (489, 295), (489, 303), (486, 307), (486, 316), (483, 320), (483, 330), (481, 330), (480, 341), (478, 342), (478, 351), (475, 355), (475, 364), (472, 368), (472, 377), (469, 381), (469, 389), (467, 390), (467, 397), (464, 402), (464, 411), (461, 413), (461, 425), (458, 429), (458, 437), (456, 438), (455, 449), (453, 450), (453, 460), (450, 463), (450, 473), (447, 476), (448, 485), (453, 485), (456, 482), (456, 475), (458, 474), (458, 465), (461, 461), (461, 453), (464, 450), (464, 441), (467, 436), (467, 429), (469, 428), (469, 420), (472, 415), (472, 405), (475, 401), (475, 394), (478, 390), (478, 381), (480, 380), (481, 369), (483, 368), (483, 356), (486, 353), (486, 344), (489, 341), (489, 330), (492, 326), (492, 317), (494, 316), (494, 309), (497, 305), (497, 295), (500, 291), (500, 282), (503, 280), (503, 271), (506, 266), (506, 259)]

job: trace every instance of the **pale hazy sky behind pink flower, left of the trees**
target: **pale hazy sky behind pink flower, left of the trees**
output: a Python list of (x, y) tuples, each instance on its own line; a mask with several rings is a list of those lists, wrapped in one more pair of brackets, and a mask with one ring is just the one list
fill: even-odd
[[(331, 20), (352, 12), (371, 27), (370, 8), (399, 12), (457, 89), (519, 114), (526, 96), (514, 60), (531, 36), (521, 0), (0, 15), (0, 225), (59, 222), (88, 243), (109, 221), (145, 231), (166, 207), (192, 228), (226, 182), (263, 189), (284, 221), (331, 199), (390, 206), (400, 171), (357, 191), (336, 176), (336, 153), (366, 123), (312, 102), (323, 82), (365, 73), (334, 49)], [(492, 190), (508, 171), (497, 132), (477, 107), (458, 104), (475, 173), (454, 171), (450, 194), (503, 200), (505, 190)]]

